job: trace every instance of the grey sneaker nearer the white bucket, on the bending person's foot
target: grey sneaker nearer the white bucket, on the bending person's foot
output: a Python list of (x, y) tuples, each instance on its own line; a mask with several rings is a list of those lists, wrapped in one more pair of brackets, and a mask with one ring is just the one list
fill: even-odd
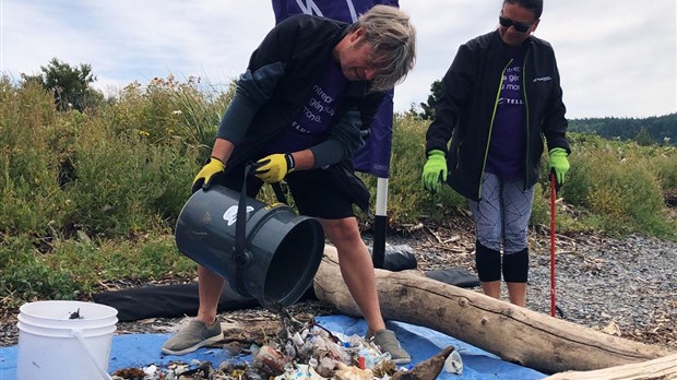
[(218, 320), (211, 326), (202, 321), (192, 320), (186, 328), (171, 336), (163, 345), (163, 353), (167, 355), (183, 355), (214, 344), (223, 339)]

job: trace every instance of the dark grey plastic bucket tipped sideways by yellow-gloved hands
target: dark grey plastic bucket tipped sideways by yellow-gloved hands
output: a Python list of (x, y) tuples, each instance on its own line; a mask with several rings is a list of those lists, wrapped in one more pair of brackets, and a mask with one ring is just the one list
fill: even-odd
[[(245, 250), (237, 257), (241, 202), (247, 210)], [(179, 214), (175, 236), (181, 253), (268, 308), (296, 302), (311, 285), (324, 251), (319, 221), (297, 215), (282, 203), (240, 198), (239, 192), (221, 186), (192, 194)]]

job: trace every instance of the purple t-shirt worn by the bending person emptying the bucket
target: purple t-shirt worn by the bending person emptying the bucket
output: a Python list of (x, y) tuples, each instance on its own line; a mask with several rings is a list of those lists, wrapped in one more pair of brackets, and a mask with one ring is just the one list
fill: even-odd
[(331, 122), (348, 84), (332, 57), (289, 127), (269, 145), (268, 154), (302, 151), (326, 139)]

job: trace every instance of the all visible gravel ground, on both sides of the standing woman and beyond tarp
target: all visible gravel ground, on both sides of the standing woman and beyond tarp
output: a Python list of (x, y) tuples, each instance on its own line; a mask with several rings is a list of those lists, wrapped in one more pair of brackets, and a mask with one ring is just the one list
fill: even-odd
[[(474, 269), (474, 238), (466, 217), (443, 226), (404, 226), (406, 237), (388, 237), (389, 244), (411, 248), (418, 268)], [(531, 234), (531, 272), (527, 307), (550, 310), (549, 236), (536, 228)], [(369, 237), (366, 236), (369, 241)], [(597, 235), (557, 236), (556, 300), (563, 319), (630, 340), (677, 348), (677, 244), (630, 236), (622, 239)], [(475, 289), (480, 292), (479, 288)], [(507, 298), (507, 297), (506, 297)], [(294, 311), (332, 313), (333, 307), (302, 301)], [(17, 344), (16, 310), (0, 314), (0, 346)], [(262, 309), (239, 310), (222, 318), (269, 316)], [(151, 319), (118, 323), (118, 333), (169, 332), (180, 319)]]

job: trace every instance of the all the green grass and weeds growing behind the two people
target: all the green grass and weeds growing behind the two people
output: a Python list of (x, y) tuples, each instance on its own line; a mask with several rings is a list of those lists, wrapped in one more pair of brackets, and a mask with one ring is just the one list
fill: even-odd
[[(0, 78), (0, 306), (87, 295), (118, 278), (194, 276), (171, 231), (233, 96), (233, 88), (210, 92), (199, 82), (132, 83), (94, 109), (59, 112), (40, 87)], [(440, 222), (466, 207), (448, 187), (437, 194), (421, 188), (427, 127), (395, 116), (391, 226)], [(663, 200), (677, 192), (675, 147), (570, 138), (559, 233), (677, 239)], [(376, 178), (363, 178), (376, 197)], [(274, 198), (265, 191), (261, 199)], [(549, 223), (545, 177), (532, 223)]]

